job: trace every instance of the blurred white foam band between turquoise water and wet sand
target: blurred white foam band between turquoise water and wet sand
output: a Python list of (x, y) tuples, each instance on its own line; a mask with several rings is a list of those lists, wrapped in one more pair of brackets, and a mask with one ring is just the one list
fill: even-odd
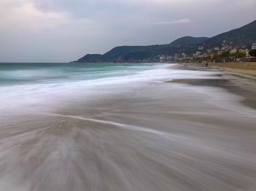
[[(127, 69), (129, 70), (129, 68)], [(113, 76), (118, 71), (112, 71)], [(123, 71), (124, 73), (124, 71)], [(104, 95), (108, 92), (127, 88), (142, 82), (164, 82), (170, 79), (206, 79), (216, 78), (209, 71), (188, 71), (176, 69), (175, 64), (155, 65), (151, 70), (137, 71), (122, 77), (105, 77), (99, 79), (80, 79), (65, 82), (40, 82), (24, 85), (10, 85), (0, 87), (1, 110), (23, 111), (35, 109), (49, 109), (59, 105), (59, 102), (72, 100), (79, 96)], [(108, 75), (109, 76), (109, 75)], [(57, 80), (56, 80), (57, 81)]]

